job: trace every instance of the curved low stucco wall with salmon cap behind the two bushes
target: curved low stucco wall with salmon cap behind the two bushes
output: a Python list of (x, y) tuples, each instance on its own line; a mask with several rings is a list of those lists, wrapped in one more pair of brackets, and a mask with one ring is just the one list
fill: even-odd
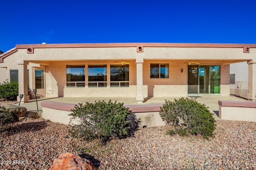
[[(65, 125), (77, 125), (79, 123), (78, 119), (72, 119), (70, 122), (71, 116), (69, 114), (72, 113), (71, 109), (74, 109), (75, 104), (47, 101), (41, 102), (41, 105), (43, 109), (42, 118), (44, 119)], [(166, 125), (159, 115), (162, 104), (124, 106), (128, 107), (134, 113), (137, 120), (140, 120), (140, 128)]]

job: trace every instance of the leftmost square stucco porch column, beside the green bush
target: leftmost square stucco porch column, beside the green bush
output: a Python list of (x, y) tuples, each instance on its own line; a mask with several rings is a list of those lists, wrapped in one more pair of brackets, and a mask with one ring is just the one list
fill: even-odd
[(24, 97), (21, 99), (21, 102), (28, 102), (28, 66), (27, 63), (24, 63), (23, 61), (18, 62), (18, 83), (19, 96), (17, 96), (17, 101), (20, 102), (20, 94), (23, 94)]

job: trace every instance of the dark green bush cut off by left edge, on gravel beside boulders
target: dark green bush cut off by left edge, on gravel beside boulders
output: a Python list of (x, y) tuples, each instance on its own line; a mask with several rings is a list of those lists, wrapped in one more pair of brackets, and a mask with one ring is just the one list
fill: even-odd
[(13, 111), (6, 111), (4, 107), (0, 107), (0, 127), (4, 127), (10, 123), (19, 121), (17, 115)]

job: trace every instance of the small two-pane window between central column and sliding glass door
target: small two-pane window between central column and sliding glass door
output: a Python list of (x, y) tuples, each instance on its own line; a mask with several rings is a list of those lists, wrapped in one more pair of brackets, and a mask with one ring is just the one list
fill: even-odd
[(169, 78), (169, 64), (150, 64), (150, 78)]

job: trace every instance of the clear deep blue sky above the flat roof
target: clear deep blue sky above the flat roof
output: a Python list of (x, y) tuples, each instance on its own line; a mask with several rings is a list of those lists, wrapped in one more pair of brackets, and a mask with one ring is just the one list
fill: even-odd
[(0, 50), (50, 43), (256, 43), (255, 0), (1, 0)]

